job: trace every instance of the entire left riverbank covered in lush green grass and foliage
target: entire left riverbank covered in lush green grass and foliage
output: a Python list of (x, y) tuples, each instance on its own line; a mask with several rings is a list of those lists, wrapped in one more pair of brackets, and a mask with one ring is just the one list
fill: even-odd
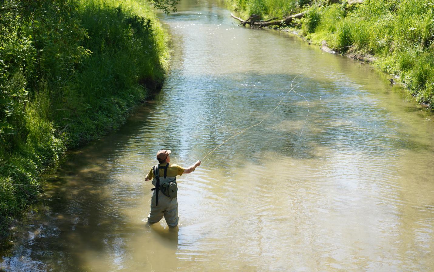
[(6, 0), (0, 15), (4, 233), (38, 198), (43, 172), (118, 128), (162, 84), (169, 51), (144, 1)]

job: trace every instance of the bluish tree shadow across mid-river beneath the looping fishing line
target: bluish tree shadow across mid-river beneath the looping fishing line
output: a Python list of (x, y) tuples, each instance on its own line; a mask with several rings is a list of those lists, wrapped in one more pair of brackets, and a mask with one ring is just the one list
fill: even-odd
[[(197, 82), (197, 85), (192, 83), (188, 91), (175, 92), (174, 96), (179, 98), (177, 102), (171, 97), (163, 98), (166, 100), (163, 104), (171, 104), (173, 108), (181, 108), (176, 105), (178, 103), (187, 104), (185, 109), (188, 111), (181, 109), (171, 114), (191, 124), (192, 132), (206, 130), (207, 134), (201, 135), (202, 138), (191, 137), (202, 142), (198, 146), (217, 146), (243, 128), (262, 120), (286, 94), (287, 86), (295, 76), (247, 72), (218, 77), (182, 75), (183, 81)], [(269, 80), (272, 82), (267, 82)], [(261, 84), (255, 85), (256, 82)], [(204, 91), (206, 86), (213, 87)], [(339, 145), (338, 148), (366, 154), (397, 149), (429, 150), (429, 144), (418, 140), (418, 131), (409, 132), (404, 122), (391, 115), (391, 105), (381, 104), (377, 96), (382, 88), (388, 88), (388, 85), (377, 86), (375, 92), (368, 92), (356, 88), (353, 83), (330, 84), (308, 75), (295, 88), (310, 104), (304, 129), (307, 103), (301, 96), (290, 93), (263, 124), (238, 135), (220, 150), (229, 161), (237, 156), (237, 153), (230, 152), (234, 145), (244, 154), (283, 149), (285, 155), (299, 158), (315, 157), (312, 148), (316, 145)], [(184, 95), (186, 92), (191, 95)], [(204, 92), (206, 96), (202, 95)], [(176, 127), (176, 124), (172, 125)], [(378, 144), (387, 148), (379, 149)]]

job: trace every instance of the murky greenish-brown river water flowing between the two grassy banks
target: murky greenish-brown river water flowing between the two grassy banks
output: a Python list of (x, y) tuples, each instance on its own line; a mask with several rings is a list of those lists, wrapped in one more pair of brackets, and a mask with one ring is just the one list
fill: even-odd
[[(238, 27), (221, 3), (183, 0), (161, 20), (162, 91), (69, 155), (1, 246), (0, 271), (434, 270), (433, 115), (372, 66)], [(146, 223), (158, 150), (188, 167), (306, 68), (294, 90), (309, 106), (290, 92), (179, 177), (179, 229)]]

